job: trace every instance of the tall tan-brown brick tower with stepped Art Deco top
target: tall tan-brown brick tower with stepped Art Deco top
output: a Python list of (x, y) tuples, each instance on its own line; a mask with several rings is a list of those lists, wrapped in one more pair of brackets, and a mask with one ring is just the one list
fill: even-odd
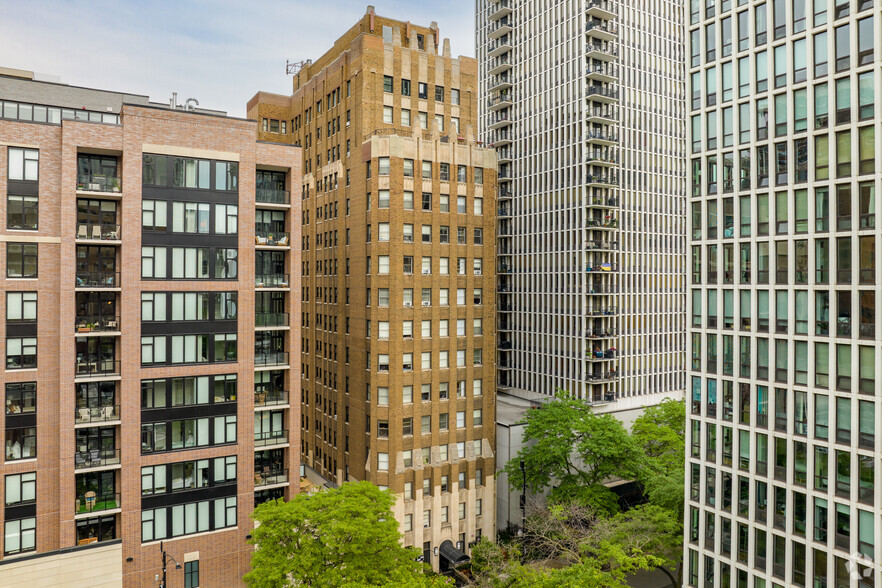
[(392, 490), (436, 569), (495, 535), (496, 155), (474, 138), (477, 74), (434, 23), (368, 7), (291, 96), (248, 103), (259, 139), (303, 147), (306, 473)]

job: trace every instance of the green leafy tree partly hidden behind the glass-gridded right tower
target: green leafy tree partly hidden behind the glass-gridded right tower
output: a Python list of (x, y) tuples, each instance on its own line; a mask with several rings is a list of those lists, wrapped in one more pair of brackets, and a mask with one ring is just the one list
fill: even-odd
[(686, 471), (686, 403), (664, 400), (647, 408), (631, 427), (644, 453), (637, 479), (650, 502), (677, 513), (682, 521)]

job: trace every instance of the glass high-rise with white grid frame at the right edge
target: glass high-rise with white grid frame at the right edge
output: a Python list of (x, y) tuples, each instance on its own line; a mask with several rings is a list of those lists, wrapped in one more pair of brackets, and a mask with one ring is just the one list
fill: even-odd
[(685, 582), (873, 586), (882, 4), (685, 7)]

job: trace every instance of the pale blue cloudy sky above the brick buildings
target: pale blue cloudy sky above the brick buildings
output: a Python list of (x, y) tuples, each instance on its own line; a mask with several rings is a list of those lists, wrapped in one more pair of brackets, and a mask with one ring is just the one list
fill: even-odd
[(291, 93), (286, 59), (315, 61), (369, 3), (475, 54), (474, 0), (0, 0), (0, 66), (245, 116), (258, 90)]

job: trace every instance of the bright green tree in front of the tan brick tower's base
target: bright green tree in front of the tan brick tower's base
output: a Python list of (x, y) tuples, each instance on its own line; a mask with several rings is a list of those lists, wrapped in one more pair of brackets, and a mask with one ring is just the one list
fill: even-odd
[(426, 575), (420, 552), (401, 545), (394, 502), (370, 482), (352, 482), (261, 504), (245, 581), (252, 588), (450, 585)]

